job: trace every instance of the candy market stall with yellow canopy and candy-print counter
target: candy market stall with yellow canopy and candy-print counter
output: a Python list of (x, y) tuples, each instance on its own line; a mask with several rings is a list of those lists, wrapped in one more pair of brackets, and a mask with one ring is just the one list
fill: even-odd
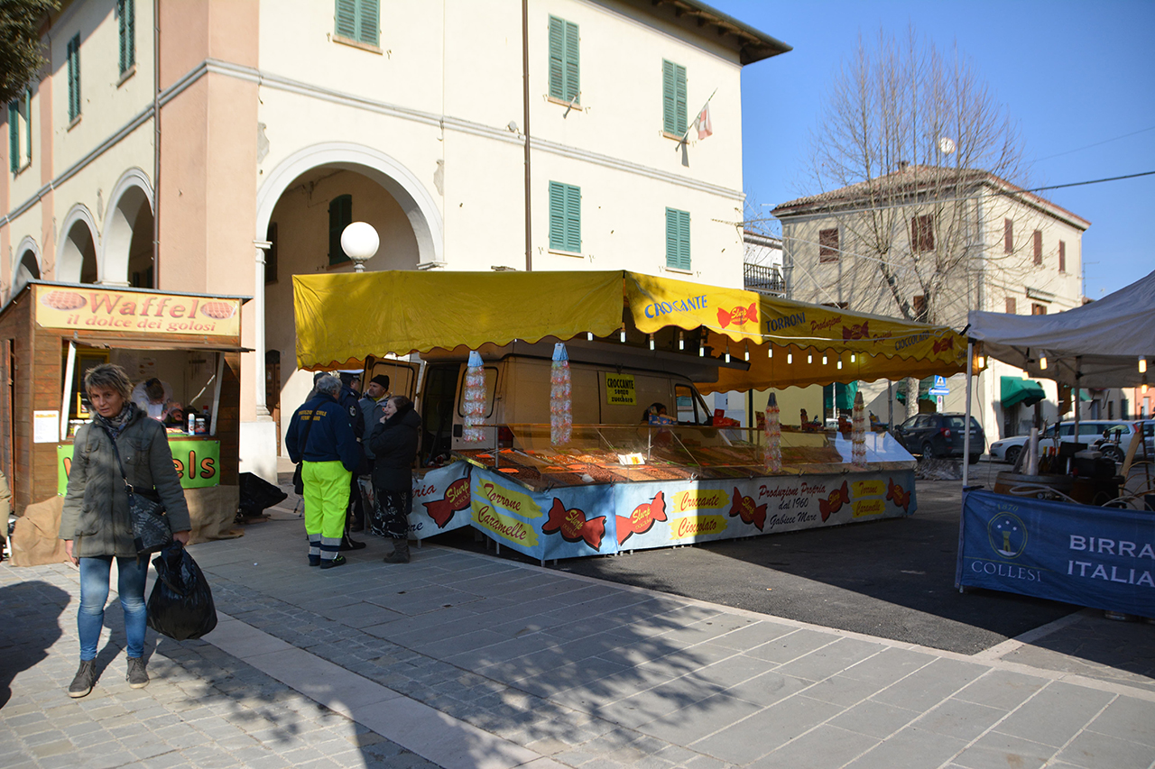
[[(426, 472), (415, 486), (418, 538), (474, 525), (543, 560), (869, 521), (917, 507), (914, 458), (885, 433), (859, 424), (852, 435), (770, 415), (765, 430), (685, 424), (673, 409), (665, 423), (639, 424), (649, 403), (635, 396), (642, 376), (613, 371), (684, 368), (708, 394), (948, 375), (967, 366), (963, 338), (949, 328), (620, 270), (310, 275), (295, 276), (293, 288), (301, 368), (359, 367), (413, 352), (469, 357), (462, 388), (472, 369), (484, 404), (504, 390), (495, 375), (485, 379), (478, 351), (497, 359), (519, 345), (568, 343), (575, 359), (606, 361), (612, 371), (604, 381), (558, 388), (569, 394), (551, 397), (541, 421), (465, 417), (463, 435), (474, 430), (478, 440), (455, 445), (463, 461)], [(567, 357), (565, 344), (560, 356)], [(557, 384), (547, 369), (536, 381), (545, 393)], [(422, 397), (420, 382), (413, 391)], [(566, 397), (618, 398), (629, 404), (629, 418), (559, 431), (551, 413), (579, 408)], [(603, 416), (613, 412), (612, 403), (602, 406)]]

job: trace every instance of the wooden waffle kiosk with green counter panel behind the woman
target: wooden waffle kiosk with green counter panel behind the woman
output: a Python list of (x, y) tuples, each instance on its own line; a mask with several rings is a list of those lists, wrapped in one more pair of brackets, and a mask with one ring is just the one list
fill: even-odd
[[(90, 416), (84, 374), (113, 363), (134, 382), (162, 382), (161, 409), (193, 537), (228, 536), (237, 508), (240, 306), (246, 300), (40, 281), (13, 297), (0, 311), (7, 412), (0, 462), (17, 514), (36, 506), (59, 515), (72, 439)], [(17, 531), (14, 546), (20, 537)]]

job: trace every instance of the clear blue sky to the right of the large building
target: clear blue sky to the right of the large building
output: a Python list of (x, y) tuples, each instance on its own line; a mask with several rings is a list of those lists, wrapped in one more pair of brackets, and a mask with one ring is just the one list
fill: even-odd
[[(1033, 187), (1155, 171), (1155, 0), (707, 2), (793, 46), (743, 69), (743, 178), (759, 203), (814, 192), (803, 159), (832, 75), (859, 31), (909, 24), (971, 58), (1019, 126)], [(1089, 298), (1155, 270), (1155, 176), (1038, 194), (1091, 222)]]

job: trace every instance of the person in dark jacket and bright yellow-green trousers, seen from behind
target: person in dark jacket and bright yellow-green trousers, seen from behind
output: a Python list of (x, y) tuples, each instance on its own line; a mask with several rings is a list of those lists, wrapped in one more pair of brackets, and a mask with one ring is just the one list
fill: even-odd
[(338, 551), (360, 448), (348, 410), (337, 403), (341, 380), (323, 376), (315, 389), (316, 395), (292, 416), (285, 433), (285, 448), (289, 458), (304, 462), (308, 565), (328, 569), (345, 562)]

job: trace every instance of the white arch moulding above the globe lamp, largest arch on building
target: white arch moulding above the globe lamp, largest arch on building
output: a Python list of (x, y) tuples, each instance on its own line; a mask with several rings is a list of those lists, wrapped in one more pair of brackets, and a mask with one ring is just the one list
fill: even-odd
[(273, 209), (297, 177), (325, 166), (353, 171), (380, 185), (401, 204), (417, 239), (419, 262), (445, 260), (441, 211), (412, 171), (380, 150), (349, 142), (313, 144), (277, 164), (256, 191), (256, 240), (264, 240)]

